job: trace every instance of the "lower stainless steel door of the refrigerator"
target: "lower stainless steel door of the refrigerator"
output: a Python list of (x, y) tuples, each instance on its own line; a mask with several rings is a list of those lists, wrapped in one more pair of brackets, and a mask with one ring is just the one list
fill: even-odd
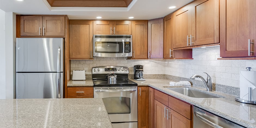
[(63, 98), (63, 73), (16, 73), (16, 98)]

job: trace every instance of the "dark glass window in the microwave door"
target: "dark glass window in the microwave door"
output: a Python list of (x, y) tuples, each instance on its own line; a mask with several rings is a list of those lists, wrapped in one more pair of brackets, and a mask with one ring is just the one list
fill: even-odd
[(123, 53), (123, 42), (95, 42), (96, 53)]

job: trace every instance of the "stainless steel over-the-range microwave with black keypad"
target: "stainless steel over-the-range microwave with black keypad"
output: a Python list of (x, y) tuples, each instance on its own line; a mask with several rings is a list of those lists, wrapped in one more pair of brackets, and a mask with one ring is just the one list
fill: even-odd
[(132, 35), (93, 35), (93, 56), (132, 56)]

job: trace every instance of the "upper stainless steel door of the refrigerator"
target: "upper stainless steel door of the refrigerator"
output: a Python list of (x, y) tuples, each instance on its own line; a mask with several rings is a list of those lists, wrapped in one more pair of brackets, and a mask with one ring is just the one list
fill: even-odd
[(17, 38), (16, 72), (63, 72), (63, 38)]

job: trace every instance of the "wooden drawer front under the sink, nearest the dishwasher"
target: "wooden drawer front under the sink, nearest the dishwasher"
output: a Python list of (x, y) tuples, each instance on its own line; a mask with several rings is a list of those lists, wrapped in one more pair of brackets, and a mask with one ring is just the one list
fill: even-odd
[(192, 120), (192, 105), (169, 96), (168, 107), (183, 115), (184, 117)]

